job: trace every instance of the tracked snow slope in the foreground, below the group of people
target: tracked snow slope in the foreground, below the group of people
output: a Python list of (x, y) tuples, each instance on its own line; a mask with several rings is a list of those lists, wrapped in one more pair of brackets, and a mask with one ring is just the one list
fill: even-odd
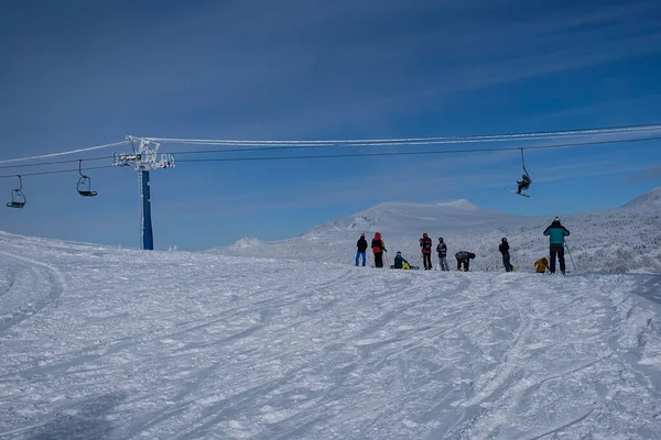
[(658, 278), (18, 238), (0, 264), (0, 439), (661, 432)]

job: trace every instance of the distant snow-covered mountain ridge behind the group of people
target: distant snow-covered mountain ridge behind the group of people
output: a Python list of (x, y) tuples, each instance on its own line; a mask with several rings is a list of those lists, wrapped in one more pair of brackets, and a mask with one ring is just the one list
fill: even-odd
[[(618, 209), (561, 219), (572, 233), (567, 238), (568, 271), (661, 274), (661, 187)], [(353, 264), (360, 233), (365, 232), (369, 242), (379, 231), (390, 261), (402, 251), (412, 264), (422, 266), (419, 239), (426, 232), (434, 248), (438, 238), (444, 238), (451, 266), (454, 254), (465, 250), (477, 255), (470, 263), (475, 271), (501, 271), (498, 245), (507, 237), (512, 264), (517, 271), (530, 272), (534, 261), (549, 254), (549, 239), (542, 232), (552, 220), (485, 210), (467, 200), (388, 202), (293, 239), (263, 242), (247, 238), (208, 252)], [(373, 264), (370, 254), (368, 261)], [(432, 260), (436, 262), (435, 253)]]

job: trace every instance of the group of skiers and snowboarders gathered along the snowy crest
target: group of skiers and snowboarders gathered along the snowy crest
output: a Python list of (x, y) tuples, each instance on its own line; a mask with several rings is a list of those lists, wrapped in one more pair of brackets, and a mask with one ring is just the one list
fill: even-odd
[[(555, 273), (555, 260), (560, 262), (560, 272), (564, 275), (565, 260), (564, 260), (564, 238), (570, 235), (570, 231), (562, 226), (560, 219), (556, 217), (553, 222), (544, 230), (544, 235), (549, 237), (549, 256), (550, 262), (546, 257), (542, 257), (534, 262), (533, 266), (537, 273), (545, 273), (546, 271), (551, 274)], [(368, 243), (365, 239), (365, 233), (360, 234), (360, 239), (356, 243), (358, 248), (358, 252), (356, 253), (356, 266), (359, 265), (360, 261), (365, 266), (367, 263), (367, 248)], [(432, 249), (433, 241), (427, 235), (427, 233), (423, 233), (420, 239), (420, 249), (422, 252), (422, 262), (425, 271), (430, 271), (433, 268), (432, 265)], [(380, 232), (376, 232), (375, 237), (371, 241), (371, 250), (375, 256), (375, 266), (383, 267), (383, 253), (388, 252), (386, 250), (386, 243), (381, 238)], [(502, 255), (502, 265), (505, 266), (506, 272), (516, 272), (514, 266), (510, 261), (510, 246), (507, 241), (507, 238), (502, 238), (500, 240), (500, 244), (498, 246), (500, 254)], [(447, 265), (447, 245), (443, 241), (443, 238), (438, 238), (438, 244), (436, 244), (436, 253), (438, 254), (438, 270), (440, 271), (449, 271), (449, 266)], [(468, 272), (470, 267), (470, 260), (475, 258), (475, 254), (468, 251), (459, 251), (455, 254), (455, 258), (457, 261), (457, 271)], [(397, 252), (397, 255), (393, 260), (393, 264), (390, 266), (391, 268), (418, 268), (418, 266), (412, 266), (403, 256), (401, 252)]]

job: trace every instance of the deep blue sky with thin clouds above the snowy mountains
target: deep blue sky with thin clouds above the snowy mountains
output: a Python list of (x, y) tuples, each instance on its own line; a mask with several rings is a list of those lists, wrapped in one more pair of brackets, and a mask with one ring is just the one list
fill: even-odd
[[(655, 0), (28, 0), (0, 6), (0, 160), (126, 134), (373, 139), (661, 122)], [(502, 190), (520, 176), (516, 151), (202, 164), (181, 155), (152, 173), (155, 244), (282, 239), (391, 200), (465, 198), (530, 216), (608, 209), (661, 185), (659, 146), (531, 151), (530, 199)], [(6, 209), (0, 229), (139, 246), (137, 174), (88, 174), (94, 199), (76, 194), (75, 173), (25, 177), (29, 205)], [(0, 185), (9, 199), (14, 179)]]

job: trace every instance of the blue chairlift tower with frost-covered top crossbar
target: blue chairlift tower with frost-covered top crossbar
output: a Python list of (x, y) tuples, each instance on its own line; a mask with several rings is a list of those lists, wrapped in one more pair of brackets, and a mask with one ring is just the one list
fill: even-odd
[[(133, 153), (115, 153), (112, 156), (112, 166), (132, 166), (138, 172), (138, 182), (140, 188), (140, 233), (142, 249), (153, 251), (154, 234), (151, 220), (151, 193), (149, 172), (152, 169), (174, 168), (174, 156), (172, 154), (161, 154), (159, 160), (159, 146), (161, 144), (148, 139), (138, 139), (127, 136), (133, 145)], [(139, 141), (139, 147), (136, 150), (134, 142)]]

